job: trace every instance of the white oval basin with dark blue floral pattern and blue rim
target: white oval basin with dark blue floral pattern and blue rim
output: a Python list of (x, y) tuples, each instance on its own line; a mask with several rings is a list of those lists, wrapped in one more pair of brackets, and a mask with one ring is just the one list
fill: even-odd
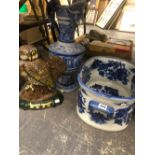
[(77, 113), (87, 124), (105, 131), (124, 130), (135, 100), (135, 68), (110, 57), (89, 59), (78, 74)]

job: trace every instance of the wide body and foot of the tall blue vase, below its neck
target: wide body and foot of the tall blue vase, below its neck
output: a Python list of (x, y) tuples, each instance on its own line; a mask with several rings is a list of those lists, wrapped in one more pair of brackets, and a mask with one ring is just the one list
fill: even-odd
[[(85, 49), (83, 46), (79, 45), (79, 46), (76, 46), (76, 48), (79, 47), (78, 50), (76, 50), (76, 48), (73, 47), (74, 46), (73, 43), (67, 43), (67, 44), (72, 44), (72, 45), (68, 45), (68, 46), (66, 46), (64, 44), (62, 45), (61, 42), (56, 42), (55, 44), (57, 44), (57, 47), (62, 46), (61, 50), (57, 50), (57, 52), (56, 52), (56, 50), (53, 49), (53, 47), (51, 45), (49, 47), (50, 54), (59, 56), (60, 58), (62, 58), (65, 61), (65, 63), (67, 64), (66, 73), (70, 73), (70, 75), (69, 75), (70, 77), (69, 76), (66, 76), (66, 78), (60, 77), (60, 79), (57, 81), (57, 87), (61, 88), (65, 92), (73, 91), (78, 86), (77, 79), (74, 78), (73, 74), (75, 74), (75, 72), (78, 71), (79, 67), (82, 64)], [(66, 50), (66, 52), (64, 50)], [(77, 52), (80, 52), (80, 53), (77, 53)], [(64, 74), (64, 76), (65, 76), (65, 74)], [(67, 78), (68, 78), (68, 80), (67, 80)], [(71, 78), (74, 79), (73, 80), (74, 84), (70, 85), (68, 83), (65, 83), (65, 81), (69, 81), (69, 79), (71, 79)], [(64, 86), (64, 84), (62, 85), (61, 83), (59, 83), (59, 81), (62, 81), (62, 79), (64, 79), (63, 83), (65, 83), (65, 86)]]

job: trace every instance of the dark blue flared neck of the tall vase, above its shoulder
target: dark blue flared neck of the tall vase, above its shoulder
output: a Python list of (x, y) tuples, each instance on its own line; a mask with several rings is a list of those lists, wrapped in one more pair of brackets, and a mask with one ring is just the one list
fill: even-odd
[(74, 33), (80, 19), (83, 18), (86, 1), (79, 1), (71, 6), (59, 6), (56, 9), (61, 42), (74, 42)]

